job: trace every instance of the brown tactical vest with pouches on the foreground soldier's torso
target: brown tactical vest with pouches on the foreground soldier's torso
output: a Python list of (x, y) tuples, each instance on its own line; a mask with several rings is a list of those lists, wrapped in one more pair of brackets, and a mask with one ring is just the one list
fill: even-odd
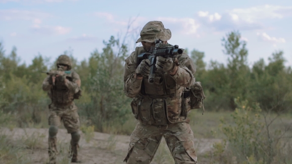
[[(143, 52), (143, 47), (136, 47), (137, 66), (139, 65), (137, 55)], [(153, 84), (148, 82), (148, 78), (143, 78), (141, 91), (131, 103), (135, 118), (151, 125), (183, 122), (184, 120), (181, 120), (183, 90), (184, 88), (177, 86), (168, 73), (156, 72)]]

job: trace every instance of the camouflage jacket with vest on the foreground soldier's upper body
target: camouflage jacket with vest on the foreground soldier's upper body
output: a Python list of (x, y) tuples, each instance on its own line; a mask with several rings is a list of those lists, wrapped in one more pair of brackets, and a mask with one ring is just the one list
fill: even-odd
[[(131, 107), (135, 118), (153, 125), (188, 122), (187, 117), (181, 116), (182, 92), (195, 80), (196, 69), (193, 61), (185, 52), (177, 55), (179, 62), (177, 73), (174, 76), (168, 73), (160, 77), (156, 76), (154, 85), (149, 85), (147, 78), (142, 80), (134, 78), (138, 67), (137, 55), (143, 52), (145, 52), (143, 47), (136, 47), (136, 50), (125, 60), (124, 67), (124, 92), (126, 96), (133, 98)], [(165, 93), (165, 90), (160, 90), (169, 87), (171, 83), (174, 84), (169, 88), (168, 95), (155, 96), (155, 94)]]

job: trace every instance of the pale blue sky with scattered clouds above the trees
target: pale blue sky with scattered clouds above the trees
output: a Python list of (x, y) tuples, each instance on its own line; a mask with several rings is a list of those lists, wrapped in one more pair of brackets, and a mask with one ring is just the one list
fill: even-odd
[(170, 44), (203, 51), (206, 63), (227, 62), (221, 40), (236, 30), (250, 65), (283, 50), (292, 66), (292, 0), (0, 0), (0, 41), (7, 55), (15, 46), (26, 64), (70, 49), (81, 61), (111, 36), (123, 41), (127, 34), (134, 51), (143, 26), (154, 20), (171, 30)]

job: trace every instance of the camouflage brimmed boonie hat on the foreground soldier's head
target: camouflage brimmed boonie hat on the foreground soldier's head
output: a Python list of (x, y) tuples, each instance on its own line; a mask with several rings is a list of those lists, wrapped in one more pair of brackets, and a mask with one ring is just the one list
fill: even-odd
[(154, 42), (157, 39), (168, 41), (171, 38), (171, 31), (165, 29), (160, 21), (150, 21), (143, 27), (140, 37), (136, 43), (141, 41)]

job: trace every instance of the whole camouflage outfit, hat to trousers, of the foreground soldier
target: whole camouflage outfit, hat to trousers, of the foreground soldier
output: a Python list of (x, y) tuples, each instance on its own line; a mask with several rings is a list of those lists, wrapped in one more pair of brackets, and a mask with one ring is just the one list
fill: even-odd
[[(170, 30), (165, 29), (160, 21), (148, 22), (140, 35), (137, 42), (153, 42), (156, 39), (168, 41), (171, 38)], [(156, 71), (154, 83), (149, 84), (148, 77), (138, 80), (135, 76), (139, 67), (137, 55), (143, 52), (144, 47), (136, 47), (125, 60), (124, 91), (133, 98), (131, 107), (138, 123), (131, 134), (124, 162), (149, 164), (164, 136), (176, 164), (196, 164), (194, 133), (182, 98), (184, 88), (195, 81), (193, 61), (185, 52), (176, 55), (175, 75)]]

